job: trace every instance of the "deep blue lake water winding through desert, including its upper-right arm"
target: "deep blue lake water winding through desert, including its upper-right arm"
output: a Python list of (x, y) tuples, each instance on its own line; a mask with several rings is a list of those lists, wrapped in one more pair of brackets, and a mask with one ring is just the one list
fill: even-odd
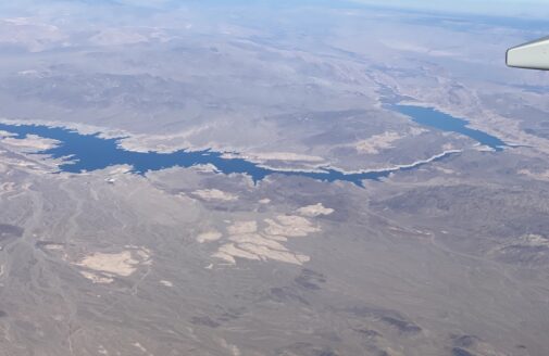
[[(411, 118), (419, 124), (469, 136), (496, 150), (501, 150), (501, 147), (504, 145), (502, 141), (495, 137), (465, 127), (467, 122), (454, 118), (432, 109), (407, 105), (392, 105), (391, 107), (411, 116)], [(349, 181), (362, 187), (362, 180), (364, 179), (378, 180), (379, 178), (389, 176), (394, 171), (415, 169), (424, 164), (427, 164), (427, 162), (420, 162), (412, 166), (352, 174), (330, 168), (321, 168), (319, 171), (287, 171), (261, 167), (253, 162), (242, 158), (223, 157), (223, 153), (210, 150), (180, 150), (173, 153), (126, 151), (118, 145), (121, 138), (103, 139), (100, 138), (98, 134), (83, 135), (60, 127), (41, 125), (8, 125), (0, 123), (0, 130), (13, 132), (16, 138), (25, 138), (26, 135), (37, 135), (43, 138), (60, 141), (61, 144), (38, 153), (47, 154), (53, 158), (70, 156), (71, 160), (64, 162), (59, 167), (61, 171), (67, 173), (90, 171), (107, 168), (112, 165), (126, 164), (133, 166), (134, 173), (144, 175), (148, 170), (159, 170), (174, 166), (191, 167), (200, 164), (212, 164), (223, 174), (246, 174), (250, 176), (254, 182), (260, 181), (270, 175), (284, 175), (301, 176), (330, 182), (336, 180)], [(442, 160), (451, 154), (454, 153), (450, 152), (444, 154), (433, 161)]]

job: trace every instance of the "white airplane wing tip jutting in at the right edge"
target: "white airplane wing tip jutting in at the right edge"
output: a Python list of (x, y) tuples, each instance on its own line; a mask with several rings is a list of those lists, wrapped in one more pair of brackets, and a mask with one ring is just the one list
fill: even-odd
[(509, 49), (507, 51), (507, 65), (517, 68), (549, 71), (549, 37)]

